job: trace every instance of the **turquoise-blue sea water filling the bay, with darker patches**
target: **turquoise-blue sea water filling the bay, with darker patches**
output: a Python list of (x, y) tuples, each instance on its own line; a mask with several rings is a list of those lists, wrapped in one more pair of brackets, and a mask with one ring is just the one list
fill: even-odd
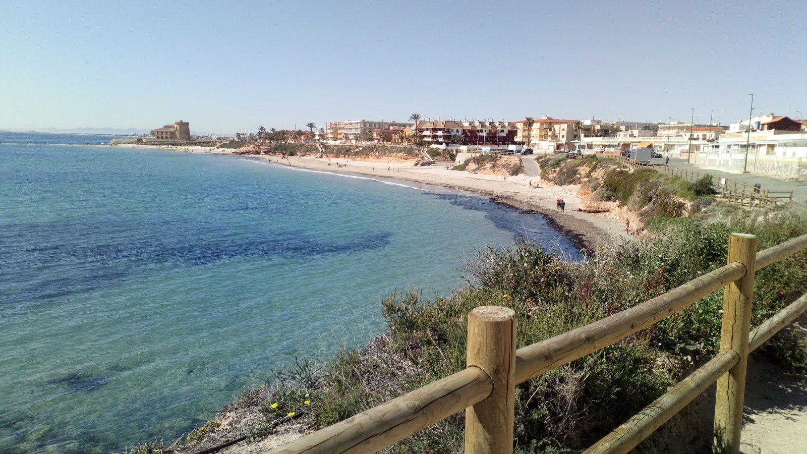
[(0, 452), (173, 441), (295, 356), (380, 334), (395, 289), (447, 295), (484, 245), (575, 254), (462, 191), (0, 141)]

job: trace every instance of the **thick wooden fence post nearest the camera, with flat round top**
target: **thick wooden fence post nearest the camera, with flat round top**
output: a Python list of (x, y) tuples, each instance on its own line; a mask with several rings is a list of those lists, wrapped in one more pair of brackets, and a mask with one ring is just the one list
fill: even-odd
[(516, 313), (481, 306), (468, 314), (468, 367), (493, 380), (493, 393), (465, 410), (466, 454), (512, 454), (516, 388)]

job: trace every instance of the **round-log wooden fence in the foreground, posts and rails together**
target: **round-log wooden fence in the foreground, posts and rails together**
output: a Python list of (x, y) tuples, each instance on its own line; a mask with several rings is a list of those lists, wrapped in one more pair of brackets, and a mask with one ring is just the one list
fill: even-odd
[(721, 351), (588, 448), (629, 452), (717, 381), (714, 452), (738, 453), (748, 353), (807, 310), (807, 294), (749, 333), (756, 271), (807, 249), (807, 235), (756, 252), (757, 238), (734, 233), (725, 267), (598, 322), (516, 350), (516, 314), (483, 306), (468, 315), (467, 368), (275, 449), (276, 454), (376, 452), (466, 410), (466, 452), (510, 453), (515, 386), (617, 343), (725, 287)]

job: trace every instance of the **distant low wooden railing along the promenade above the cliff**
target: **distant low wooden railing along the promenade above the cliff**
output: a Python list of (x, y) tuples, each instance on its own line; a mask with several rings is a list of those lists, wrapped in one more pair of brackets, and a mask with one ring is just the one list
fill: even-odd
[[(701, 172), (700, 170), (679, 169), (678, 167), (671, 167), (664, 164), (638, 162), (625, 156), (606, 154), (597, 156), (617, 159), (625, 162), (629, 166), (651, 168), (665, 175), (680, 177), (692, 183), (699, 180), (702, 175), (709, 174), (709, 172)], [(712, 182), (720, 197), (732, 204), (740, 204), (744, 207), (761, 207), (763, 204), (776, 205), (783, 204), (784, 202), (792, 202), (793, 200), (793, 191), (767, 191), (745, 182), (740, 183), (737, 180), (725, 179), (713, 174), (709, 174), (709, 176), (712, 177)]]

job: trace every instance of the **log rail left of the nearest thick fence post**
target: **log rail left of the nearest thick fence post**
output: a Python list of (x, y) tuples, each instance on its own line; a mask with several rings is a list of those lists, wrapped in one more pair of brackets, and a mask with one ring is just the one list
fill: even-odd
[(466, 368), (271, 452), (376, 452), (483, 401), (492, 392), (493, 381), (487, 373)]

